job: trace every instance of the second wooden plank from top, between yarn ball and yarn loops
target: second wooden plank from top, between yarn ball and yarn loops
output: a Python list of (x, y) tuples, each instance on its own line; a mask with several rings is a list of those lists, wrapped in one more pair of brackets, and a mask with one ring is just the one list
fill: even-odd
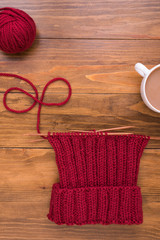
[[(24, 54), (0, 55), (0, 72), (10, 72), (30, 79), (42, 91), (54, 77), (64, 77), (74, 93), (139, 93), (141, 76), (134, 70), (136, 62), (148, 68), (159, 63), (160, 41), (156, 40), (38, 40)], [(152, 65), (151, 61), (152, 59)], [(0, 77), (0, 91), (28, 84)], [(55, 87), (56, 86), (56, 87)], [(48, 91), (64, 91), (56, 83)], [(59, 91), (59, 89), (58, 89)]]

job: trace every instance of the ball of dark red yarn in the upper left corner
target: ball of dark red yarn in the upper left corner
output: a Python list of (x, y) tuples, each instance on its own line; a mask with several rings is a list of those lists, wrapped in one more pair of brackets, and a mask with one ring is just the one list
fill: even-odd
[(19, 53), (28, 49), (36, 37), (36, 25), (24, 11), (0, 8), (0, 49)]

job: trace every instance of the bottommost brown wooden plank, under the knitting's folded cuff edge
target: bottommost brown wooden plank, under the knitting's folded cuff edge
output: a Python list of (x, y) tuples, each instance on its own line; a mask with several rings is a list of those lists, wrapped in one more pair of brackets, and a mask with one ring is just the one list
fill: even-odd
[[(0, 219), (2, 229), (0, 239), (146, 239), (158, 240), (160, 237), (159, 215), (160, 204), (156, 201), (143, 204), (144, 222), (141, 225), (85, 225), (57, 226), (50, 222), (46, 214), (46, 203), (0, 203), (4, 215)], [(48, 205), (48, 203), (47, 203)], [(18, 238), (17, 238), (18, 236)], [(105, 236), (105, 237), (104, 237)]]

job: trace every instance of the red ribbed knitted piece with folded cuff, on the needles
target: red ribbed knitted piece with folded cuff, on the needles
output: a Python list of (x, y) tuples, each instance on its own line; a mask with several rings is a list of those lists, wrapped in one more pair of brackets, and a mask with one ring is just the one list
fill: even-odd
[(57, 224), (140, 224), (140, 157), (149, 137), (53, 133), (60, 182), (53, 185), (48, 218)]

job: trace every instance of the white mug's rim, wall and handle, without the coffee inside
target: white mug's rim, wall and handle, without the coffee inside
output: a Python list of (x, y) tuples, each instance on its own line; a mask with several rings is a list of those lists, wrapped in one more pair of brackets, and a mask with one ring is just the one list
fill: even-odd
[(142, 63), (136, 63), (135, 65), (135, 70), (143, 77), (143, 80), (141, 82), (141, 97), (144, 101), (144, 103), (147, 105), (147, 107), (149, 107), (151, 110), (160, 113), (160, 110), (158, 110), (157, 108), (155, 108), (148, 100), (147, 96), (146, 96), (146, 90), (145, 90), (145, 86), (146, 86), (146, 82), (147, 79), (149, 77), (149, 75), (151, 74), (151, 72), (153, 72), (156, 68), (159, 68), (160, 64), (156, 65), (155, 67), (148, 69), (146, 68)]

